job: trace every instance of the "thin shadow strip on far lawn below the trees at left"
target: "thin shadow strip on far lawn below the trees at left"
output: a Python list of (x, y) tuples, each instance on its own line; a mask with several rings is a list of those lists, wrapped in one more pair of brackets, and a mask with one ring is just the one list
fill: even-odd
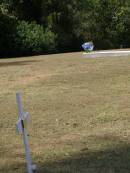
[(28, 61), (0, 62), (0, 67), (28, 65), (29, 63), (32, 63), (32, 62), (37, 62), (37, 61), (36, 60), (28, 60)]

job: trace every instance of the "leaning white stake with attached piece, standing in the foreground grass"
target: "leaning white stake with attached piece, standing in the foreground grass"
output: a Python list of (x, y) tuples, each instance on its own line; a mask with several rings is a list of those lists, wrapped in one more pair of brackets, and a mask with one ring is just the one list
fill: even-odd
[(32, 164), (29, 143), (28, 143), (27, 129), (26, 129), (26, 125), (28, 124), (29, 121), (29, 113), (23, 111), (21, 96), (19, 92), (16, 93), (16, 101), (18, 105), (18, 114), (19, 114), (19, 119), (16, 123), (16, 130), (19, 134), (22, 134), (23, 136), (25, 156), (27, 162), (27, 171), (28, 173), (33, 173), (34, 171), (36, 171), (36, 165)]

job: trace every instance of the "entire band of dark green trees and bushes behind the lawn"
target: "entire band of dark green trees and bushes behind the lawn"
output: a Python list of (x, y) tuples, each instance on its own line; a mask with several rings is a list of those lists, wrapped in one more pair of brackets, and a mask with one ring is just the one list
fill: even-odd
[(1, 0), (0, 56), (130, 46), (129, 0)]

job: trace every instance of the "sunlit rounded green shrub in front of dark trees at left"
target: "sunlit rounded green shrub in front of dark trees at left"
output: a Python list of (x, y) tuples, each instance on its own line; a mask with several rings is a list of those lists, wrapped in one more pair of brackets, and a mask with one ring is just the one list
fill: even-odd
[(18, 21), (15, 49), (20, 55), (51, 53), (55, 51), (56, 35), (36, 22)]

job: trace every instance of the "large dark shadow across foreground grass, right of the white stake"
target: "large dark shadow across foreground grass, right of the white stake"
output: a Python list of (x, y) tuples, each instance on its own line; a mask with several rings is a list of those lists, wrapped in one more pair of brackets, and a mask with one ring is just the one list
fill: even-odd
[(81, 151), (63, 160), (39, 164), (38, 173), (129, 173), (130, 146), (98, 152)]

